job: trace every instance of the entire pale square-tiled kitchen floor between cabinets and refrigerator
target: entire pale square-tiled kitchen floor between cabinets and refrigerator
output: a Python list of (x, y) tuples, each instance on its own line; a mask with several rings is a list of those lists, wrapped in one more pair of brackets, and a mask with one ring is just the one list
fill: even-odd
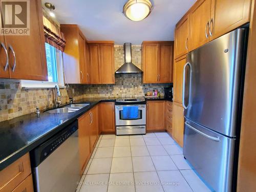
[(101, 135), (77, 188), (86, 191), (210, 191), (167, 133)]

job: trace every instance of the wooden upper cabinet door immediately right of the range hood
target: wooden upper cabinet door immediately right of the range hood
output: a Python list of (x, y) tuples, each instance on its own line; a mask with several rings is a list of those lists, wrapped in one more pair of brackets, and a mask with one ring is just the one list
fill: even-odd
[(159, 44), (144, 44), (142, 49), (143, 83), (157, 83)]

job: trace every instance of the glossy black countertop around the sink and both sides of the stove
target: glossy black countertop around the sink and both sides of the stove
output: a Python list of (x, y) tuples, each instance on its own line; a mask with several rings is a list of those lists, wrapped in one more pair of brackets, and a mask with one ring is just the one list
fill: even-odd
[[(115, 99), (84, 98), (75, 100), (74, 103), (90, 103), (90, 105), (73, 113), (41, 113), (39, 118), (32, 113), (0, 122), (0, 170), (45, 142), (99, 102), (114, 102)], [(160, 97), (146, 100), (168, 99)], [(62, 106), (65, 105), (67, 104)]]

